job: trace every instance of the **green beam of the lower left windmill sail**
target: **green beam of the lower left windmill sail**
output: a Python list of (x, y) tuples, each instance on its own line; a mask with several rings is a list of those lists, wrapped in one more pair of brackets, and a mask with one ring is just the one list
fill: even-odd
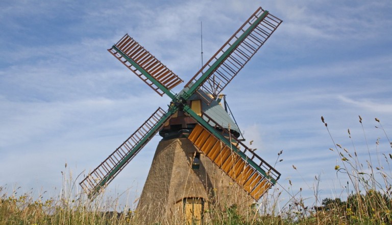
[(158, 129), (168, 120), (170, 119), (170, 117), (176, 113), (176, 111), (178, 110), (178, 107), (173, 105), (169, 107), (169, 110), (167, 111), (167, 113), (165, 114), (165, 116), (163, 116), (157, 124), (155, 124), (154, 127), (152, 127), (152, 129), (146, 133), (145, 137), (142, 138), (140, 140), (140, 142), (124, 157), (124, 159), (122, 159), (117, 166), (115, 166), (113, 168), (113, 170), (102, 179), (102, 181), (97, 184), (94, 187), (94, 190), (89, 194), (89, 198), (91, 198), (92, 196), (94, 196), (96, 193), (98, 193), (104, 186), (106, 183), (108, 183), (111, 179), (111, 177), (113, 177), (128, 161), (129, 159), (132, 157), (133, 154), (135, 154), (136, 152), (138, 152), (138, 150), (140, 148), (142, 148), (146, 142), (148, 142), (151, 138), (153, 138), (153, 136), (155, 135), (155, 133), (158, 131)]

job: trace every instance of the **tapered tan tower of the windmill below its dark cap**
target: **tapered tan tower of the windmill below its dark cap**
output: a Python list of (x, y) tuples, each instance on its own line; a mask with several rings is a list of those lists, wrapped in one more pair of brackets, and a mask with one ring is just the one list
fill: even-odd
[(141, 224), (201, 224), (236, 207), (246, 216), (254, 199), (186, 138), (161, 141), (136, 210)]

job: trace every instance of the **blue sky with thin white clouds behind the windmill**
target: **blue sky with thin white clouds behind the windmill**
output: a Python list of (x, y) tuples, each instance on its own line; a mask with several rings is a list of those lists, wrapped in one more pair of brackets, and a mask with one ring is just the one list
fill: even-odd
[[(167, 108), (168, 97), (107, 52), (124, 34), (186, 83), (201, 68), (201, 22), (205, 62), (260, 6), (283, 23), (225, 88), (227, 102), (264, 160), (275, 165), (283, 150), (283, 203), (301, 188), (314, 197), (315, 176), (321, 196), (341, 196), (347, 177), (334, 170), (342, 165), (333, 141), (355, 147), (364, 163), (368, 149), (374, 163), (376, 152), (392, 150), (384, 134), (392, 138), (390, 1), (2, 1), (0, 186), (50, 197), (62, 174), (79, 183), (158, 106)], [(108, 195), (137, 199), (159, 141)]]

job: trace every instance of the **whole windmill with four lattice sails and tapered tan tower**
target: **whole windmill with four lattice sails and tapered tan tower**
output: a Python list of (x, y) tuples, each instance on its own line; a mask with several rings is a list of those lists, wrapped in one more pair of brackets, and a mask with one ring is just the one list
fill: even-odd
[[(211, 204), (217, 189), (232, 192), (237, 188), (242, 201), (260, 199), (280, 173), (237, 139), (239, 129), (216, 98), (281, 22), (258, 8), (178, 94), (170, 90), (183, 80), (128, 34), (108, 49), (171, 101), (167, 110), (159, 107), (83, 179), (80, 185), (88, 197), (99, 194), (159, 132), (163, 139), (138, 205), (140, 212), (150, 214), (150, 222), (176, 210), (188, 221), (202, 220), (203, 209)], [(238, 200), (230, 197), (229, 201)]]

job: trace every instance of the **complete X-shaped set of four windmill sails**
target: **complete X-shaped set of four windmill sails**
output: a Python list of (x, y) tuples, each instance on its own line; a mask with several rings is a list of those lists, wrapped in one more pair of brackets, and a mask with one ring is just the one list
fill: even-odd
[[(95, 197), (109, 184), (178, 110), (198, 123), (188, 139), (254, 199), (258, 200), (275, 185), (280, 177), (278, 171), (238, 141), (228, 129), (219, 126), (207, 115), (199, 116), (192, 111), (187, 100), (195, 92), (198, 92), (207, 103), (215, 99), (281, 22), (282, 20), (260, 7), (185, 85), (184, 92), (178, 95), (172, 93), (171, 89), (183, 80), (128, 34), (108, 49), (160, 96), (168, 95), (173, 104), (170, 104), (167, 111), (158, 108), (124, 143), (83, 179), (80, 185), (89, 198)], [(213, 98), (210, 99), (202, 93), (212, 94)]]

